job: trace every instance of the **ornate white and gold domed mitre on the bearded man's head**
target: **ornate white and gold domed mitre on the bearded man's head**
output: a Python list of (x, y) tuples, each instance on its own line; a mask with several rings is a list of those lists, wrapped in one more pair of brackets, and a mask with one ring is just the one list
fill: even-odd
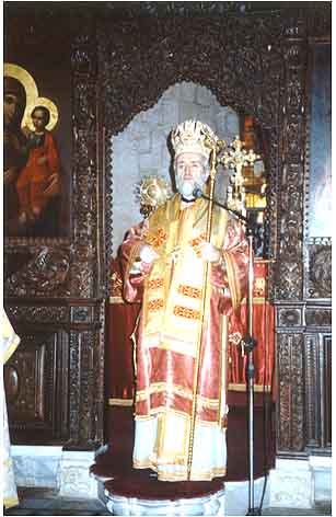
[(185, 120), (178, 124), (171, 138), (175, 157), (181, 152), (200, 152), (207, 159), (212, 145), (218, 140), (212, 129), (200, 120)]

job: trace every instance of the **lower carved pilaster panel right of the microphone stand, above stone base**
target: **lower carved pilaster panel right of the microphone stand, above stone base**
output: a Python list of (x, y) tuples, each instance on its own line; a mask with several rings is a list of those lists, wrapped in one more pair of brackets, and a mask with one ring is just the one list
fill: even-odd
[(278, 451), (304, 449), (303, 334), (278, 334)]

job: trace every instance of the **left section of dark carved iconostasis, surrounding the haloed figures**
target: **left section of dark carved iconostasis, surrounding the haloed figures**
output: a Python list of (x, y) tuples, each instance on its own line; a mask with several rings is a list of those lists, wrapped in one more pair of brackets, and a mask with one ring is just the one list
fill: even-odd
[(5, 62), (23, 68), (38, 96), (57, 106), (61, 183), (55, 232), (26, 225), (4, 239), (4, 305), (21, 336), (5, 380), (13, 443), (88, 449), (103, 440), (103, 196), (96, 60), (81, 47), (92, 53), (95, 45), (85, 24), (80, 36), (77, 12), (48, 2), (4, 8)]

